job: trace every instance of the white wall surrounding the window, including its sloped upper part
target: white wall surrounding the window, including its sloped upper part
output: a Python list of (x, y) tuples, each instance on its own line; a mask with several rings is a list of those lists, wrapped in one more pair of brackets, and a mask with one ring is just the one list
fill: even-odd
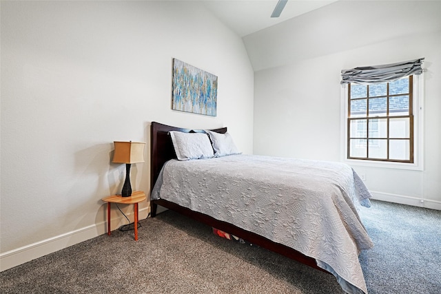
[(342, 69), (425, 57), (424, 171), (353, 168), (374, 198), (441, 209), (441, 1), (338, 1), (245, 45), (256, 70), (254, 153), (319, 160), (341, 160)]

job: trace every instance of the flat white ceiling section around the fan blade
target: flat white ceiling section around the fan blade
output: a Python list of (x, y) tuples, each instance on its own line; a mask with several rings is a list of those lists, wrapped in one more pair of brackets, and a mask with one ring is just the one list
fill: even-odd
[(203, 5), (222, 23), (243, 37), (336, 0), (289, 0), (280, 17), (271, 18), (277, 2), (278, 0), (206, 0)]

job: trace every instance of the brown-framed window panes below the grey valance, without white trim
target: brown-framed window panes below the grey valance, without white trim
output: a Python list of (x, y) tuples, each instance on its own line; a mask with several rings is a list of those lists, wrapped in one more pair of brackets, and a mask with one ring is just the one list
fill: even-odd
[(413, 76), (349, 83), (347, 158), (413, 163)]

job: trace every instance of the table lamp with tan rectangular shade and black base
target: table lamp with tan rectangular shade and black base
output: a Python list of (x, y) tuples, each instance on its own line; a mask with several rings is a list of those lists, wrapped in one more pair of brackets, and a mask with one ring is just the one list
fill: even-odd
[(141, 142), (114, 141), (115, 152), (112, 162), (125, 163), (125, 182), (121, 196), (132, 196), (132, 185), (130, 185), (130, 166), (132, 163), (144, 162), (144, 146)]

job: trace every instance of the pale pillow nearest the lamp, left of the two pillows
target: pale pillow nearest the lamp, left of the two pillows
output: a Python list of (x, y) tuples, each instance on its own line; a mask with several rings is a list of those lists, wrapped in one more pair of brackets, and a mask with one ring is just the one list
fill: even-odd
[(212, 158), (213, 147), (207, 134), (169, 132), (178, 160)]

